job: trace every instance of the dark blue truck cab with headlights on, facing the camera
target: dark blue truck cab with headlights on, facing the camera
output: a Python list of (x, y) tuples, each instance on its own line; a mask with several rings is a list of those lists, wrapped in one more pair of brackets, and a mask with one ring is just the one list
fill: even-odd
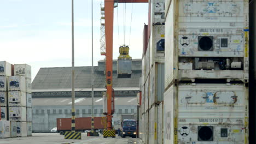
[(121, 123), (121, 136), (124, 138), (126, 136), (131, 136), (136, 138), (137, 123), (135, 119), (124, 119)]

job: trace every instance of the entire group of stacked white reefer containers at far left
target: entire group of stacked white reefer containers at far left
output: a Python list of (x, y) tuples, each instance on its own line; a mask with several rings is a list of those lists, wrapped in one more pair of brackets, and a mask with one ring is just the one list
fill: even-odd
[[(5, 83), (0, 82), (4, 83), (3, 86), (5, 86), (3, 87), (5, 88), (5, 96), (0, 98), (0, 106), (3, 112), (1, 116), (2, 120), (8, 120), (6, 122), (0, 121), (0, 123), (6, 125), (8, 122), (8, 127), (10, 127), (9, 137), (31, 136), (31, 67), (27, 64), (11, 65), (7, 62), (0, 62), (0, 69), (5, 74), (5, 79), (3, 79), (3, 76), (1, 77), (1, 80)], [(4, 129), (4, 127), (1, 129)], [(0, 137), (5, 138), (7, 136), (2, 135)]]

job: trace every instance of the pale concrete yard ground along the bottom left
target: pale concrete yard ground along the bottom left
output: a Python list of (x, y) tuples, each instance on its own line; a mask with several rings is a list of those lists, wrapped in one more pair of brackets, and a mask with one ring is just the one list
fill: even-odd
[(102, 135), (98, 137), (88, 137), (86, 136), (86, 133), (82, 133), (82, 140), (65, 140), (63, 135), (60, 135), (59, 133), (34, 133), (32, 136), (28, 137), (15, 137), (15, 138), (7, 138), (7, 139), (0, 139), (0, 144), (30, 144), (30, 143), (36, 143), (36, 144), (66, 144), (66, 143), (72, 143), (72, 144), (141, 144), (140, 139), (132, 139), (131, 137), (121, 138), (120, 136), (117, 136), (115, 138), (103, 138)]

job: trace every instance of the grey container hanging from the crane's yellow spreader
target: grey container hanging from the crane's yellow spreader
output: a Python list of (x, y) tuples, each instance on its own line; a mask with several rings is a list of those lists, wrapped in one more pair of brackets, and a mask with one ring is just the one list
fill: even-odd
[(132, 74), (132, 59), (118, 59), (118, 78), (130, 78)]

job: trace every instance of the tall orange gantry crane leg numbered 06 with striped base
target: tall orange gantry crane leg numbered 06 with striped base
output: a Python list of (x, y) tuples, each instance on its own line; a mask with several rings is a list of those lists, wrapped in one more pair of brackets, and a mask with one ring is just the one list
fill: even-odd
[[(148, 0), (104, 0), (104, 7), (101, 6), (102, 20), (101, 31), (104, 31), (105, 36), (101, 39), (101, 55), (106, 56), (106, 97), (107, 97), (107, 128), (103, 130), (103, 137), (115, 137), (115, 130), (112, 127), (112, 115), (114, 113), (112, 98), (112, 78), (113, 78), (113, 21), (114, 21), (114, 7), (117, 7), (118, 3), (148, 3)], [(104, 13), (103, 13), (104, 12)], [(106, 45), (104, 45), (106, 40)], [(106, 47), (106, 53), (104, 48)]]

